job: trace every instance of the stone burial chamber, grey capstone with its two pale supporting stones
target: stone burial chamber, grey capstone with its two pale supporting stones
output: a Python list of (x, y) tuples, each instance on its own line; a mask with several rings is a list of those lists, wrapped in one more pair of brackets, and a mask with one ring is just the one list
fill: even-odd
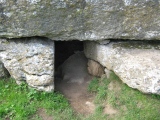
[[(51, 92), (54, 70), (75, 47), (70, 41), (78, 40), (83, 42), (76, 47), (83, 43), (87, 59), (100, 63), (105, 73), (112, 70), (128, 86), (160, 94), (159, 4), (158, 0), (1, 0), (0, 71), (5, 67), (18, 84), (25, 80)], [(70, 50), (60, 41), (70, 42)]]

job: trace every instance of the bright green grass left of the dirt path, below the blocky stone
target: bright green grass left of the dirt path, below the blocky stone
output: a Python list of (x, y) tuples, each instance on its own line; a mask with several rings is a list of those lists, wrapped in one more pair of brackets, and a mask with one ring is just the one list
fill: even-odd
[[(13, 79), (0, 80), (0, 119), (41, 119), (39, 108), (46, 109), (55, 120), (77, 119), (68, 101), (60, 93), (39, 92), (25, 83), (18, 86)], [(74, 117), (75, 116), (75, 117)]]

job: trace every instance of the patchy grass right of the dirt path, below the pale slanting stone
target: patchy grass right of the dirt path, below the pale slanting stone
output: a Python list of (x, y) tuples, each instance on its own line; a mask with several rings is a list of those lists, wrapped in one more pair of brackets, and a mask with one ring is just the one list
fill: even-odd
[[(96, 84), (95, 80), (91, 81), (89, 87), (92, 88), (89, 89), (91, 92), (96, 92), (95, 103), (97, 106), (109, 104), (117, 110), (115, 115), (107, 115), (99, 120), (160, 119), (160, 95), (147, 95), (132, 89), (122, 83), (113, 72), (108, 79), (97, 78)], [(101, 114), (96, 111), (93, 116), (97, 118), (96, 116), (100, 116)]]

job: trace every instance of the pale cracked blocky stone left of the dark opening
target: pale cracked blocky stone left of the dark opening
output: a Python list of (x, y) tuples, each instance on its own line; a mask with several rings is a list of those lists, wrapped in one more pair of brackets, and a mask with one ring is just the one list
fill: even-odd
[(0, 39), (0, 61), (18, 84), (54, 89), (54, 42), (46, 38)]

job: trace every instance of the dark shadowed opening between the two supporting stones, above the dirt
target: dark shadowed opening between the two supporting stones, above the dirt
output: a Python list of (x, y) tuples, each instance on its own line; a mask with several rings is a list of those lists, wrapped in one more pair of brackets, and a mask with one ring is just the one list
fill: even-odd
[[(81, 66), (84, 66), (81, 53), (83, 54), (82, 41), (73, 40), (55, 42), (54, 83), (56, 91), (59, 91), (59, 88), (62, 88), (62, 86), (66, 86), (67, 81), (72, 81), (73, 79), (77, 80), (77, 82), (80, 81), (78, 78), (81, 78), (81, 74), (83, 75), (83, 70), (80, 69)], [(79, 77), (77, 78), (77, 76)]]

